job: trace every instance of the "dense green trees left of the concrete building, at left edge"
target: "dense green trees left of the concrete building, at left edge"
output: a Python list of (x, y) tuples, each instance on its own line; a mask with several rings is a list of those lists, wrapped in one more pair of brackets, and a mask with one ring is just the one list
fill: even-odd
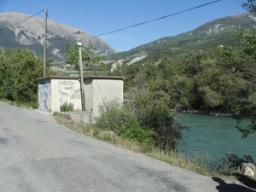
[[(0, 97), (20, 102), (38, 101), (37, 78), (43, 60), (29, 49), (0, 49)], [(47, 74), (53, 74), (48, 68)]]

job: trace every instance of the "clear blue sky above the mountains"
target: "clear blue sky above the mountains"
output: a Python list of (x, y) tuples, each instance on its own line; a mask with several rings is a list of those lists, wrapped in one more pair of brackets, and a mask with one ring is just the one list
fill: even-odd
[[(48, 9), (50, 20), (78, 27), (91, 35), (112, 32), (166, 15), (191, 9), (214, 0), (0, 0), (0, 13), (35, 15)], [(241, 0), (222, 0), (199, 9), (156, 20), (123, 31), (103, 35), (113, 49), (125, 51), (158, 38), (188, 32), (211, 20), (245, 13)], [(44, 18), (44, 12), (37, 15)]]

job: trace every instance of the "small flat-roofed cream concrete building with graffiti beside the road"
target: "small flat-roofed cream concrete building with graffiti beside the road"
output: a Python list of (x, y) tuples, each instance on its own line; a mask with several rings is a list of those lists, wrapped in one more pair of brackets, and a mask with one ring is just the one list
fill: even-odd
[[(101, 103), (113, 99), (123, 101), (124, 77), (89, 76), (84, 77), (85, 111), (99, 114)], [(73, 109), (82, 110), (79, 77), (48, 76), (38, 78), (39, 110), (60, 112), (65, 102), (73, 103)]]

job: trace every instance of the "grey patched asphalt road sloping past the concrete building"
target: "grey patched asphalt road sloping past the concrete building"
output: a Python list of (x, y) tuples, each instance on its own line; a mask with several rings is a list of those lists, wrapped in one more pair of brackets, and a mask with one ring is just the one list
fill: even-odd
[(255, 191), (205, 177), (0, 102), (0, 191)]

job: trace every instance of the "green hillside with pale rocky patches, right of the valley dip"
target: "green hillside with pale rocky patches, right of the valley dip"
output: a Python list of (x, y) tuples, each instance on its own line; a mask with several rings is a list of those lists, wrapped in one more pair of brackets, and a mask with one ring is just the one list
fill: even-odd
[(245, 15), (236, 15), (212, 20), (189, 32), (173, 37), (160, 38), (129, 51), (105, 57), (104, 61), (112, 64), (114, 68), (121, 64), (130, 65), (146, 61), (160, 61), (163, 57), (203, 51), (215, 48), (218, 45), (239, 47), (236, 31), (242, 26), (253, 29), (253, 19)]

